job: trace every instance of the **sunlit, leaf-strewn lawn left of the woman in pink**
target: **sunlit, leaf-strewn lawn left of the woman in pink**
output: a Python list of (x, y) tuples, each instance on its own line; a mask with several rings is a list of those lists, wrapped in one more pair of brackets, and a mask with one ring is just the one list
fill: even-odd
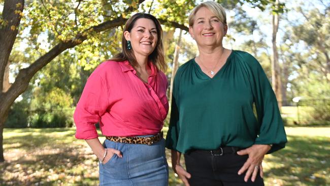
[(0, 163), (0, 185), (98, 184), (96, 157), (74, 138), (74, 129), (5, 132), (9, 158)]

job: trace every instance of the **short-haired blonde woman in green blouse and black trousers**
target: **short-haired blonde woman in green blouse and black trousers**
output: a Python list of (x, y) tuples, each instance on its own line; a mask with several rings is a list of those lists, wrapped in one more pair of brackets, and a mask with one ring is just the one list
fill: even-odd
[(177, 71), (166, 139), (172, 168), (185, 185), (263, 185), (263, 157), (287, 141), (265, 72), (249, 53), (222, 46), (227, 28), (216, 2), (189, 15), (200, 54)]

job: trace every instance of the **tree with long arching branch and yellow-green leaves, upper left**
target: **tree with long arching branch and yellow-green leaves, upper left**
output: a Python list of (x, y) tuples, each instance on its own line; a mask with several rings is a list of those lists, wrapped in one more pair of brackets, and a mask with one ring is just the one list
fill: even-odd
[[(227, 2), (223, 1), (224, 4)], [(229, 2), (248, 2), (254, 7), (262, 8), (274, 1)], [(188, 30), (183, 23), (195, 1), (5, 0), (0, 1), (0, 5), (3, 6), (0, 17), (1, 162), (4, 161), (2, 133), (10, 106), (28, 88), (34, 75), (50, 61), (61, 56), (64, 50), (77, 46), (73, 52), (76, 53), (78, 65), (85, 70), (93, 69), (100, 61), (118, 51), (120, 45), (113, 41), (119, 41), (123, 24), (130, 13), (139, 8), (157, 15), (164, 25)], [(28, 47), (24, 48), (24, 45)], [(22, 47), (14, 50), (24, 53), (24, 58), (9, 60), (13, 46)], [(27, 60), (23, 61), (25, 58)], [(8, 83), (8, 73), (5, 73), (8, 72), (9, 63), (21, 67), (18, 68), (12, 84)]]

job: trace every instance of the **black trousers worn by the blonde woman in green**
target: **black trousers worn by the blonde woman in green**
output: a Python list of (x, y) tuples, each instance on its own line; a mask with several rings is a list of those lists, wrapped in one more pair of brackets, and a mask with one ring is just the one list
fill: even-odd
[(206, 150), (193, 150), (184, 154), (188, 179), (191, 186), (263, 186), (260, 174), (254, 182), (251, 177), (244, 181), (245, 173), (238, 175), (238, 171), (248, 159), (248, 155), (240, 156), (236, 152), (219, 154)]

